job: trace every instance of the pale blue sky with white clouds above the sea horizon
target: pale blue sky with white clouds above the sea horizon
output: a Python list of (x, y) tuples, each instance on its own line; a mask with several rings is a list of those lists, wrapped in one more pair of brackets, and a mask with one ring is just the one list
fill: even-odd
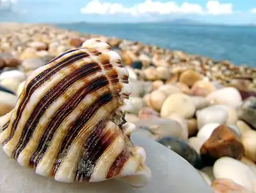
[(256, 24), (256, 0), (0, 0), (0, 22), (157, 22), (186, 18)]

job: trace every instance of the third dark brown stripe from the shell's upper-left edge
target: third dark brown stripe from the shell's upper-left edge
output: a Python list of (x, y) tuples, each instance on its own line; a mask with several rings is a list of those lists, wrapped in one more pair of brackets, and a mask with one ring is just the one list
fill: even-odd
[[(104, 76), (100, 76), (99, 78), (96, 78), (92, 82), (85, 85), (85, 87), (79, 89), (77, 93), (67, 101), (63, 106), (61, 106), (60, 110), (58, 110), (51, 118), (51, 121), (47, 125), (47, 129), (44, 132), (44, 136), (42, 136), (42, 140), (40, 141), (40, 144), (38, 145), (35, 153), (32, 155), (30, 164), (31, 166), (36, 167), (38, 162), (44, 157), (45, 152), (47, 151), (49, 143), (51, 143), (52, 138), (54, 137), (54, 134), (56, 132), (56, 129), (58, 129), (58, 126), (61, 124), (61, 122), (70, 115), (70, 113), (77, 108), (77, 105), (81, 103), (81, 101), (84, 99), (84, 97), (87, 94), (91, 94), (95, 90), (99, 90), (102, 87), (105, 87), (108, 85), (108, 80)], [(85, 109), (86, 112), (88, 109)], [(75, 129), (73, 127), (73, 129)], [(74, 131), (68, 131), (67, 136), (71, 136)], [(65, 138), (65, 143), (67, 143), (68, 138)], [(53, 159), (53, 158), (52, 158)]]

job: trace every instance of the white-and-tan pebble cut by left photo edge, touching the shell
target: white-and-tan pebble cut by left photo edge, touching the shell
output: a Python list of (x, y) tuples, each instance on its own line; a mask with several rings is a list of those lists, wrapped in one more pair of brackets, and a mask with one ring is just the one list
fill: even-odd
[(13, 110), (17, 102), (17, 96), (8, 92), (0, 91), (0, 116)]

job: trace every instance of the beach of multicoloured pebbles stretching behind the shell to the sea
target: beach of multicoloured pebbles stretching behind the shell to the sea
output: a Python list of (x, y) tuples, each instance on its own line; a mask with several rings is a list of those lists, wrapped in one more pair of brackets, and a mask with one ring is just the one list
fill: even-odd
[(256, 193), (256, 69), (140, 41), (48, 24), (0, 24), (0, 116), (29, 73), (86, 39), (106, 41), (129, 70), (126, 119), (186, 159), (216, 193)]

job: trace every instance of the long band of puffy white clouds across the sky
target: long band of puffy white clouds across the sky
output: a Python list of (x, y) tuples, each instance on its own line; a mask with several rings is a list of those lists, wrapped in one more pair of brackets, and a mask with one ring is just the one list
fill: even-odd
[(232, 13), (232, 3), (221, 4), (219, 1), (208, 1), (206, 8), (202, 8), (200, 4), (184, 2), (180, 6), (174, 1), (161, 1), (145, 0), (143, 3), (134, 4), (131, 7), (125, 7), (120, 3), (101, 3), (99, 0), (90, 1), (84, 8), (81, 8), (83, 14), (115, 14), (127, 13), (131, 15), (140, 15), (145, 13), (157, 14), (211, 14), (222, 15)]

